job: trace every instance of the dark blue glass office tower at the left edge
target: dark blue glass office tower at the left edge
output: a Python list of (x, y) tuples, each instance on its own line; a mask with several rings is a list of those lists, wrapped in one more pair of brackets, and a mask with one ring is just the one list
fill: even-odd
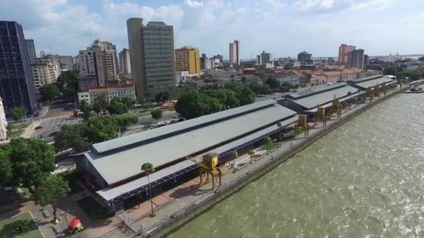
[(0, 21), (0, 96), (6, 115), (15, 106), (36, 110), (36, 88), (22, 26)]

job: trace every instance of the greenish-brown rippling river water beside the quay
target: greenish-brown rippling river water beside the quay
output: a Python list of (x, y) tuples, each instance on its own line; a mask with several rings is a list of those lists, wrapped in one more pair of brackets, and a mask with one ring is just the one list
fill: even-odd
[(169, 237), (424, 237), (424, 94), (382, 102)]

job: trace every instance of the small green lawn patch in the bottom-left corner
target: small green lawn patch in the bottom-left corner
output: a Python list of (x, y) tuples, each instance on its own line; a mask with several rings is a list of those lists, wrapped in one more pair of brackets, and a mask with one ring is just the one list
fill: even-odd
[[(22, 226), (22, 233), (20, 233), (19, 230), (16, 230), (19, 226)], [(10, 219), (0, 221), (0, 238), (9, 237), (41, 238), (43, 235), (41, 235), (40, 230), (38, 230), (31, 214), (27, 212)]]

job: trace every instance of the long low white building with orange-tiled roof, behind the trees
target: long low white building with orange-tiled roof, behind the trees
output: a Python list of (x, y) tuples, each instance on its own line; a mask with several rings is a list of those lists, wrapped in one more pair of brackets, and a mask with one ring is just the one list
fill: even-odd
[(112, 101), (115, 97), (123, 98), (130, 97), (135, 100), (135, 88), (134, 86), (111, 86), (111, 87), (98, 87), (90, 88), (87, 92), (79, 92), (78, 100), (86, 100), (89, 104), (93, 103), (93, 100), (98, 95), (105, 95), (106, 100)]

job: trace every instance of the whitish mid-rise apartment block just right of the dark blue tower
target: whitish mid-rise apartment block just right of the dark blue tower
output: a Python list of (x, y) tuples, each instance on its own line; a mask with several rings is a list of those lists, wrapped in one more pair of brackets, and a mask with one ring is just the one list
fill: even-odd
[(36, 90), (45, 84), (52, 84), (57, 81), (60, 72), (50, 58), (34, 58), (33, 62), (31, 68)]

